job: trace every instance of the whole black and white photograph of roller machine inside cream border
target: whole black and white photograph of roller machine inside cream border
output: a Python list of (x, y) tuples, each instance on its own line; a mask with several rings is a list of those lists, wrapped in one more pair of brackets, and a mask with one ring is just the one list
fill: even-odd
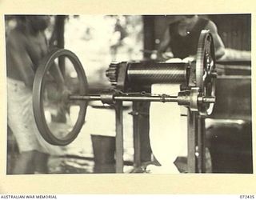
[(6, 174), (253, 174), (251, 14), (5, 14)]

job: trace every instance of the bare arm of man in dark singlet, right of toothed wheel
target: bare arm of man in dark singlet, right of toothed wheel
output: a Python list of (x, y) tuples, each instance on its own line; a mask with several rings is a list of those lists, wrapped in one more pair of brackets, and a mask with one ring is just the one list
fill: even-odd
[(222, 58), (222, 56), (225, 54), (225, 46), (222, 42), (221, 37), (218, 35), (217, 26), (214, 24), (214, 22), (210, 21), (206, 25), (206, 30), (210, 30), (210, 33), (213, 35), (214, 38), (215, 58)]

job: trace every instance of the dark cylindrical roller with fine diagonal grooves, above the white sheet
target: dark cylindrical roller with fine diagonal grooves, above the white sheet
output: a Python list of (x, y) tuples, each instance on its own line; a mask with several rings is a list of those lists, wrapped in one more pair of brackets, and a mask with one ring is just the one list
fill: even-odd
[(130, 63), (127, 75), (128, 81), (132, 84), (137, 82), (143, 85), (155, 83), (184, 83), (187, 82), (186, 69), (188, 63)]

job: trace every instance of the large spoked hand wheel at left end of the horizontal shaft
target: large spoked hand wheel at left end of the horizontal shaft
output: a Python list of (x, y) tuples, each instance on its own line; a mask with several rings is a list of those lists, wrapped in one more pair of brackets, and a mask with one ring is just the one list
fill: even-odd
[(33, 110), (46, 142), (65, 146), (78, 136), (87, 102), (70, 101), (69, 95), (86, 95), (87, 87), (82, 64), (70, 50), (53, 50), (42, 60), (34, 77)]

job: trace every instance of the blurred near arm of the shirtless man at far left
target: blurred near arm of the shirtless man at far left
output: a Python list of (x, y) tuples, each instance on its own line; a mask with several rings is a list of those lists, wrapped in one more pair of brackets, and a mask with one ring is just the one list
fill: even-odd
[(33, 62), (26, 50), (26, 43), (18, 35), (10, 35), (6, 42), (7, 67), (18, 70), (26, 87), (32, 90), (34, 82)]

